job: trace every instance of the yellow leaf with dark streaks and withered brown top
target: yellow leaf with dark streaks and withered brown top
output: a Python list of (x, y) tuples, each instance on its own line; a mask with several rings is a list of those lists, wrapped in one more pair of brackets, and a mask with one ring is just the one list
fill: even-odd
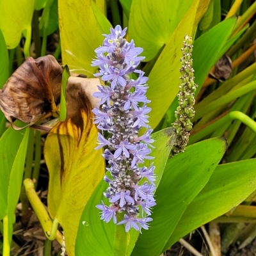
[(68, 84), (67, 119), (51, 129), (44, 148), (50, 179), (48, 209), (65, 231), (68, 255), (74, 255), (84, 205), (105, 172), (102, 151), (94, 149), (98, 131), (85, 91), (79, 83)]

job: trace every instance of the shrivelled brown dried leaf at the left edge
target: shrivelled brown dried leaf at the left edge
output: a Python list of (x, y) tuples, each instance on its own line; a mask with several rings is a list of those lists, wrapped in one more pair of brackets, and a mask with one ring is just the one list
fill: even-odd
[(29, 57), (17, 68), (0, 90), (0, 109), (13, 128), (19, 129), (12, 118), (32, 125), (42, 119), (47, 108), (57, 115), (61, 74), (61, 66), (51, 55), (36, 60)]

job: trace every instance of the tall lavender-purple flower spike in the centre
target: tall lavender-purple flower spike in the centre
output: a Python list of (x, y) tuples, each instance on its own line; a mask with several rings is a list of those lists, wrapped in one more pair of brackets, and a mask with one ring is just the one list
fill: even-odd
[[(104, 196), (109, 199), (109, 206), (103, 202), (96, 207), (102, 212), (100, 219), (116, 223), (116, 215), (124, 216), (117, 225), (125, 224), (125, 231), (131, 228), (140, 230), (148, 229), (148, 222), (152, 221), (151, 207), (156, 205), (154, 191), (156, 186), (155, 167), (151, 164), (139, 166), (149, 156), (152, 129), (148, 123), (147, 107), (150, 100), (146, 97), (148, 77), (144, 72), (136, 70), (140, 61), (145, 57), (138, 56), (143, 49), (135, 47), (133, 40), (125, 40), (125, 31), (120, 26), (110, 29), (109, 35), (104, 35), (103, 45), (95, 52), (96, 60), (92, 66), (99, 66), (100, 76), (107, 85), (99, 85), (99, 91), (93, 94), (100, 99), (99, 106), (93, 109), (94, 123), (100, 130), (108, 131), (109, 138), (98, 135), (96, 147), (108, 147), (102, 156), (109, 163), (109, 172), (112, 178), (105, 176), (109, 188)], [(137, 79), (131, 78), (131, 73), (138, 75)], [(145, 134), (138, 136), (141, 127), (145, 127)], [(143, 179), (143, 184), (140, 180)], [(147, 180), (147, 181), (146, 181)]]

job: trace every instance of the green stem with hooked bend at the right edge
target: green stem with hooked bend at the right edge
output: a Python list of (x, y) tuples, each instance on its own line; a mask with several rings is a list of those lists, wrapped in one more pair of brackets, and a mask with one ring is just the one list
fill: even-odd
[(220, 118), (219, 120), (217, 120), (216, 122), (214, 122), (213, 124), (208, 125), (201, 131), (196, 132), (196, 134), (193, 134), (189, 138), (189, 145), (195, 143), (196, 141), (202, 140), (202, 138), (211, 134), (212, 132), (216, 131), (216, 129), (222, 127), (228, 122), (231, 122), (232, 120), (240, 120), (243, 124), (250, 127), (250, 129), (252, 129), (253, 132), (256, 132), (256, 122), (254, 122), (252, 118), (250, 118), (249, 116), (245, 115), (240, 111), (232, 111), (227, 115), (223, 116), (222, 118)]

